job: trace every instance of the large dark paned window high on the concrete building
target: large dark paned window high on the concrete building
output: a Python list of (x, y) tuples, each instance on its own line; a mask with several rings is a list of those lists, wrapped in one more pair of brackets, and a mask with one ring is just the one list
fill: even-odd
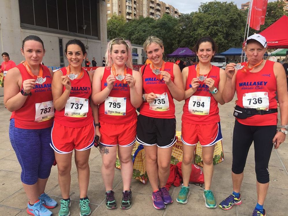
[(95, 0), (18, 0), (18, 2), (21, 27), (50, 31), (56, 29), (98, 37)]

